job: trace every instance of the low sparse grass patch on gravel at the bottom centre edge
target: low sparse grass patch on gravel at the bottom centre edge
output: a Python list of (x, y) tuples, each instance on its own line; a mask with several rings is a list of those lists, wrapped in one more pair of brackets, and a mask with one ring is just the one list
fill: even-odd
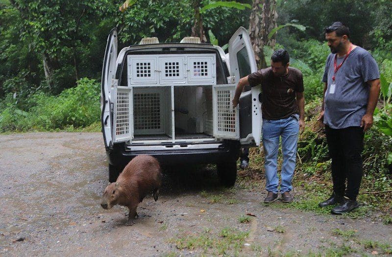
[(171, 239), (177, 249), (202, 249), (207, 255), (238, 255), (244, 246), (249, 232), (234, 228), (224, 228), (218, 234), (204, 233), (201, 235), (186, 235)]

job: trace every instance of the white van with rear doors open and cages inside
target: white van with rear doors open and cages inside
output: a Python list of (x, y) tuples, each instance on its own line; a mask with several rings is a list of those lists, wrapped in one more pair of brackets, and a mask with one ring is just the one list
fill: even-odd
[(257, 70), (245, 28), (221, 47), (187, 37), (180, 43), (144, 38), (117, 49), (108, 37), (101, 81), (102, 133), (109, 181), (139, 154), (161, 165), (217, 164), (225, 186), (233, 186), (242, 145), (260, 143), (260, 86), (232, 99), (239, 79)]

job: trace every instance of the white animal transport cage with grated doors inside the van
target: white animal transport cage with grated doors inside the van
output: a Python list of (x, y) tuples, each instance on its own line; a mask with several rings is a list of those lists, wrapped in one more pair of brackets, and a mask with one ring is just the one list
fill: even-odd
[(235, 124), (234, 108), (223, 112), (233, 88), (216, 89), (215, 54), (128, 55), (127, 74), (127, 85), (115, 89), (116, 142), (212, 139), (214, 108), (219, 130)]

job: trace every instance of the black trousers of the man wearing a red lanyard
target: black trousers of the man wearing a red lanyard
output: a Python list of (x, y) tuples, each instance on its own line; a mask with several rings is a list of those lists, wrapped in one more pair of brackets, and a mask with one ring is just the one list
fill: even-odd
[(356, 200), (363, 175), (361, 157), (364, 149), (363, 128), (333, 129), (326, 125), (325, 133), (329, 155), (332, 158), (334, 193)]

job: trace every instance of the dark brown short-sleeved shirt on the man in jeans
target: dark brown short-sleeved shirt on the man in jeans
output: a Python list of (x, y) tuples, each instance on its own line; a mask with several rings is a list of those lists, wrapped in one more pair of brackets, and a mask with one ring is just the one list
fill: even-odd
[(261, 84), (262, 114), (265, 119), (282, 119), (298, 113), (296, 92), (303, 92), (301, 71), (289, 67), (286, 75), (276, 77), (271, 67), (248, 76), (251, 87)]

